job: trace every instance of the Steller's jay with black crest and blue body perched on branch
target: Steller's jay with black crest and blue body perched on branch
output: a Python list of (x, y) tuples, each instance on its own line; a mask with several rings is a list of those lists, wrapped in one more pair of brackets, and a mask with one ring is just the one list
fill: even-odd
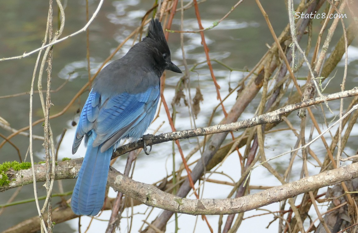
[(87, 151), (71, 199), (75, 214), (94, 216), (102, 209), (112, 153), (121, 139), (139, 139), (149, 127), (164, 70), (182, 73), (170, 60), (159, 20), (152, 19), (148, 35), (98, 74), (72, 147), (74, 154), (85, 137)]

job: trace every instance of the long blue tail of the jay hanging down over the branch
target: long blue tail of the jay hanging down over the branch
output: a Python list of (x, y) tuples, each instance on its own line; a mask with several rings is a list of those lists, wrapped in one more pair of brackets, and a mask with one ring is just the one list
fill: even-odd
[(90, 136), (86, 155), (73, 189), (71, 208), (77, 215), (94, 216), (98, 214), (105, 200), (113, 146), (102, 153), (101, 145), (92, 147), (92, 143), (93, 138)]

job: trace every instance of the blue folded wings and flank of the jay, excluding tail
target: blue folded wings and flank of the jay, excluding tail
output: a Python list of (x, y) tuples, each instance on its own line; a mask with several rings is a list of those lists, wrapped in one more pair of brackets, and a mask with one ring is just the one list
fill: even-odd
[(92, 89), (79, 119), (72, 151), (76, 152), (90, 130), (96, 133), (92, 146), (102, 144), (101, 152), (122, 138), (140, 138), (153, 120), (159, 93), (159, 86), (151, 86), (142, 93), (107, 97)]

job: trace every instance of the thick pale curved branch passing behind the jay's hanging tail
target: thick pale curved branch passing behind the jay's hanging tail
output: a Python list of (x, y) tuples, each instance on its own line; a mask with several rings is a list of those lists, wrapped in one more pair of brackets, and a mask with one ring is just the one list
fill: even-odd
[[(56, 166), (56, 179), (73, 178), (77, 174), (81, 162), (81, 159), (59, 162)], [(35, 170), (36, 180), (38, 182), (45, 181), (45, 165), (37, 164), (35, 165)], [(11, 182), (9, 187), (1, 187), (0, 191), (4, 191), (10, 187), (19, 186), (20, 183), (32, 183), (31, 169), (20, 170), (14, 174), (14, 177), (16, 180)], [(177, 213), (214, 215), (246, 212), (328, 185), (352, 180), (357, 177), (358, 163), (353, 163), (345, 167), (340, 167), (318, 175), (313, 175), (311, 177), (267, 189), (260, 193), (232, 199), (179, 198), (173, 194), (165, 193), (153, 185), (132, 180), (114, 168), (111, 168), (109, 171), (108, 185), (149, 206)], [(15, 183), (18, 185), (14, 185)]]

